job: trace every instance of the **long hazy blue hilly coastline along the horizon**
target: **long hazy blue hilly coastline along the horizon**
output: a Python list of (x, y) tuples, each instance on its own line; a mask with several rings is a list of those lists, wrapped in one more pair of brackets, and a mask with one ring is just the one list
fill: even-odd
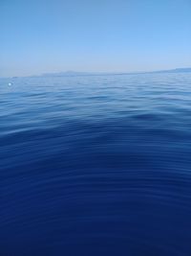
[(66, 71), (58, 73), (45, 73), (41, 77), (75, 77), (75, 76), (106, 76), (106, 75), (137, 75), (137, 74), (158, 74), (158, 73), (191, 73), (191, 67), (175, 68), (168, 70), (157, 70), (150, 72), (75, 72)]

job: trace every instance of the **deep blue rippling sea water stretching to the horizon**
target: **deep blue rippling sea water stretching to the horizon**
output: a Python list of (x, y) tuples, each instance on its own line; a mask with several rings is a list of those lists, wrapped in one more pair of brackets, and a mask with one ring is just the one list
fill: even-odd
[(190, 256), (191, 74), (1, 79), (0, 170), (1, 256)]

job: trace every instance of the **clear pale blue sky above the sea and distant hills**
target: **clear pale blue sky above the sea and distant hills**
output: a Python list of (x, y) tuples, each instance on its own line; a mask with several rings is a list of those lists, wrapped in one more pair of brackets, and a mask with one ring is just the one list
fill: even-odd
[(191, 0), (0, 0), (0, 76), (191, 66)]

